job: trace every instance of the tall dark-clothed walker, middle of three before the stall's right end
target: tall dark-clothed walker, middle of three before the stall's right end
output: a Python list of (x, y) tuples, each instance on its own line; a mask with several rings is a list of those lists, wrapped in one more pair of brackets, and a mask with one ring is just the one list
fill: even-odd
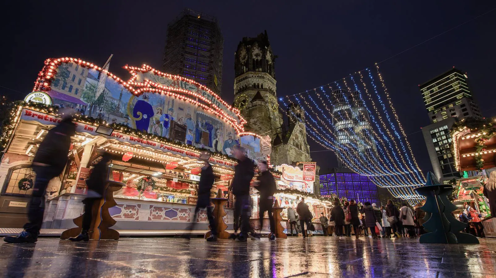
[(246, 242), (250, 229), (249, 214), (251, 213), (249, 186), (255, 174), (254, 165), (245, 156), (240, 145), (233, 147), (233, 154), (238, 160), (238, 164), (234, 167), (232, 183), (233, 194), (236, 197), (236, 203), (234, 205), (234, 236), (236, 236), (236, 232), (240, 229), (241, 232), (236, 236), (236, 241)]

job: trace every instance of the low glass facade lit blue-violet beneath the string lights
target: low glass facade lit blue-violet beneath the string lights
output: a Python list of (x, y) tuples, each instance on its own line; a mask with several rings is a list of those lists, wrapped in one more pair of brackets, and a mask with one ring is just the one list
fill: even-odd
[(377, 186), (357, 173), (329, 173), (320, 176), (320, 195), (336, 194), (339, 198), (378, 203)]

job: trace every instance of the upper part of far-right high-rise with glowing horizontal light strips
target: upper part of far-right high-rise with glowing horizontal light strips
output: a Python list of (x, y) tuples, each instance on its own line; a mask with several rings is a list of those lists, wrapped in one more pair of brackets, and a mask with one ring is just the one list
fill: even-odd
[(448, 117), (482, 117), (467, 79), (467, 74), (453, 67), (419, 85), (432, 123)]

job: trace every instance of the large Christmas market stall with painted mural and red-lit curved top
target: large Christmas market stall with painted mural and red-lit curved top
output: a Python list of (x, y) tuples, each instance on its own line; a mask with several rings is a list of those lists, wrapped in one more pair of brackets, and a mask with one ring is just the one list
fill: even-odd
[[(196, 204), (202, 152), (212, 154), (212, 196), (218, 189), (230, 198), (229, 185), (236, 160), (232, 148), (246, 141), (252, 159), (260, 144), (244, 132), (246, 120), (208, 88), (192, 80), (147, 65), (124, 67), (128, 80), (77, 58), (47, 59), (33, 92), (15, 105), (2, 134), (0, 164), (2, 227), (21, 227), (35, 173), (31, 161), (44, 136), (62, 113), (74, 113), (76, 135), (61, 176), (47, 189), (43, 227), (74, 227), (83, 212), (87, 178), (101, 151), (112, 154), (109, 180), (124, 183), (110, 208), (116, 229), (184, 229)], [(54, 101), (53, 92), (81, 102)], [(82, 105), (84, 104), (84, 105)], [(261, 158), (259, 158), (261, 159)], [(232, 209), (226, 209), (228, 225)], [(198, 229), (207, 229), (200, 211)]]

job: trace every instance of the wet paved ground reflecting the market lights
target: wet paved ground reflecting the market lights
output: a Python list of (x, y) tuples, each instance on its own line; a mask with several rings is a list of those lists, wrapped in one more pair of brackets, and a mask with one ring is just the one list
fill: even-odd
[(496, 239), (480, 245), (409, 238), (122, 238), (0, 243), (2, 277), (496, 277)]

